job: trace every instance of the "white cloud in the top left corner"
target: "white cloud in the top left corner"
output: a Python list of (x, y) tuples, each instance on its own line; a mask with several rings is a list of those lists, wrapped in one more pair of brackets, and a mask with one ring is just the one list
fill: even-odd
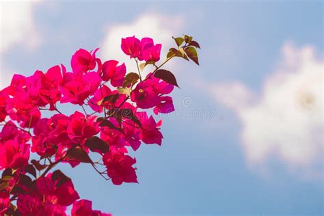
[(10, 47), (21, 45), (35, 49), (40, 44), (40, 33), (33, 22), (33, 7), (38, 1), (0, 2), (0, 89), (8, 85), (11, 70), (4, 65), (3, 55)]

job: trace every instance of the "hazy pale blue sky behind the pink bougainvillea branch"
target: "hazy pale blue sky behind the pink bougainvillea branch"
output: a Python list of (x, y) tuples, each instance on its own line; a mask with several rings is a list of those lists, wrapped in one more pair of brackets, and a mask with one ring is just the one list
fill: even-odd
[[(8, 4), (1, 2), (1, 10)], [(11, 72), (30, 75), (34, 70), (46, 70), (59, 63), (69, 67), (70, 56), (79, 48), (101, 47), (98, 52), (103, 58), (107, 58), (105, 53), (108, 57), (120, 56), (121, 51), (116, 53), (116, 49), (109, 49), (109, 44), (104, 45), (105, 41), (116, 41), (111, 46), (119, 46), (120, 38), (126, 36), (113, 38), (122, 32), (119, 26), (128, 29), (135, 26), (136, 32), (130, 35), (148, 32), (169, 44), (172, 44), (172, 36), (187, 33), (202, 46), (200, 66), (179, 59), (167, 66), (174, 71), (181, 87), (172, 93), (178, 111), (163, 117), (165, 139), (161, 147), (142, 146), (131, 153), (137, 159), (138, 185), (112, 185), (88, 165), (75, 169), (62, 167), (74, 179), (81, 197), (93, 201), (94, 208), (117, 216), (324, 214), (323, 111), (310, 112), (306, 120), (304, 114), (297, 112), (295, 115), (301, 119), (301, 124), (307, 124), (295, 127), (293, 120), (283, 119), (292, 126), (278, 131), (277, 126), (268, 123), (273, 118), (267, 117), (267, 111), (279, 111), (278, 115), (288, 116), (285, 113), (290, 110), (275, 109), (273, 104), (269, 105), (270, 109), (264, 103), (273, 103), (268, 100), (265, 87), (268, 80), (275, 83), (269, 89), (278, 87), (289, 92), (285, 83), (295, 81), (294, 73), (278, 83), (271, 78), (276, 71), (286, 68), (281, 65), (289, 62), (288, 59), (299, 59), (293, 61), (292, 68), (299, 68), (299, 62), (303, 61), (320, 65), (323, 82), (323, 2), (53, 1), (28, 3), (26, 8), (25, 14), (17, 16), (26, 16), (25, 25), (29, 29), (9, 31), (21, 36), (14, 42), (1, 39), (3, 44), (9, 41), (8, 49), (1, 48), (2, 87), (9, 82)], [(1, 25), (10, 22), (7, 16), (1, 18)], [(136, 25), (138, 20), (150, 18), (157, 23)], [(160, 30), (154, 30), (153, 25)], [(170, 38), (165, 38), (163, 33), (170, 33)], [(1, 35), (10, 38), (3, 29)], [(33, 38), (37, 41), (33, 42)], [(306, 56), (308, 49), (314, 49), (316, 62)], [(306, 72), (310, 73), (312, 70)], [(323, 91), (319, 89), (323, 87), (316, 88), (312, 95), (317, 96), (315, 101), (322, 102), (315, 104), (321, 108)], [(219, 94), (224, 90), (226, 94)], [(245, 93), (240, 93), (242, 91)], [(255, 104), (243, 100), (250, 94), (257, 98)], [(227, 100), (235, 96), (239, 105), (237, 101)], [(288, 97), (289, 94), (282, 92), (282, 100), (289, 100)], [(234, 107), (247, 105), (239, 110), (233, 108), (233, 103)], [(265, 120), (251, 135), (245, 129), (247, 126), (253, 129), (255, 124), (251, 121), (259, 115), (254, 112), (256, 109), (261, 110)], [(201, 111), (202, 115), (195, 115), (196, 111)], [(245, 118), (247, 115), (249, 118)], [(316, 122), (308, 120), (312, 117)], [(270, 130), (269, 139), (262, 135), (264, 127)], [(319, 129), (315, 135), (319, 136), (314, 141), (316, 146), (312, 146), (308, 135), (298, 133), (299, 130), (313, 131), (313, 128)], [(271, 135), (279, 138), (273, 141)], [(308, 141), (292, 142), (299, 138)], [(252, 144), (254, 140), (260, 143), (249, 145), (249, 141)], [(288, 144), (319, 154), (309, 154), (309, 158), (306, 155), (308, 161), (303, 161), (300, 157), (303, 154), (291, 153), (291, 148), (286, 148)], [(262, 148), (258, 153), (253, 149), (262, 145), (271, 150)]]

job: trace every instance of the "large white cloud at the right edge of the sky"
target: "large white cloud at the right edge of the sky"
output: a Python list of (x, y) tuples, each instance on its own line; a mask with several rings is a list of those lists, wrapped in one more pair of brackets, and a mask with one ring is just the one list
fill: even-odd
[(313, 46), (286, 43), (282, 62), (267, 77), (262, 95), (243, 83), (215, 84), (213, 96), (241, 120), (241, 143), (249, 165), (280, 158), (306, 178), (323, 176), (323, 59)]

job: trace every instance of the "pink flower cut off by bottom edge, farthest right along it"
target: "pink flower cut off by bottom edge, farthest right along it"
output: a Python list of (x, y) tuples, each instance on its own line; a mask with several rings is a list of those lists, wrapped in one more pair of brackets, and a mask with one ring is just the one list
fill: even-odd
[(72, 216), (112, 216), (111, 214), (101, 213), (101, 211), (92, 210), (90, 200), (78, 200), (73, 203)]

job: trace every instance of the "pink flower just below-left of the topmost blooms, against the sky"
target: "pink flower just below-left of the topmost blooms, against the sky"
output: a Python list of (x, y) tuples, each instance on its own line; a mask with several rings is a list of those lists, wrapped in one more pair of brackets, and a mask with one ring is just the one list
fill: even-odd
[(126, 66), (125, 64), (121, 64), (117, 66), (118, 62), (115, 60), (109, 60), (103, 64), (101, 68), (100, 77), (103, 81), (111, 81), (111, 85), (114, 87), (122, 86), (122, 81), (124, 81), (124, 77), (126, 74)]

